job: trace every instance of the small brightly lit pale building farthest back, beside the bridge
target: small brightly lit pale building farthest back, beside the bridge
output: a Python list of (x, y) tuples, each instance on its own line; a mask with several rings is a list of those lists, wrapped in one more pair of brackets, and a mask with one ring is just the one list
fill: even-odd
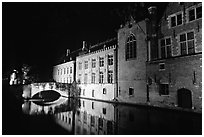
[(53, 79), (59, 83), (72, 83), (75, 78), (75, 61), (65, 62), (53, 67)]

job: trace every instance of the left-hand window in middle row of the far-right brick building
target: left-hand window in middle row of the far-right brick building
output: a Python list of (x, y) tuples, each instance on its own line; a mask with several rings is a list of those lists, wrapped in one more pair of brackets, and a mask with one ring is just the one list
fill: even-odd
[(161, 47), (161, 58), (169, 58), (171, 57), (171, 38), (165, 38), (160, 40)]

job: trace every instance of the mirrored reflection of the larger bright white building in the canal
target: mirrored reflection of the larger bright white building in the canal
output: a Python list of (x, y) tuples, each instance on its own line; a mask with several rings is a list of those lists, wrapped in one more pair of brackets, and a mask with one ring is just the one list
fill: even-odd
[(114, 106), (90, 100), (81, 100), (81, 108), (75, 114), (75, 134), (115, 134)]

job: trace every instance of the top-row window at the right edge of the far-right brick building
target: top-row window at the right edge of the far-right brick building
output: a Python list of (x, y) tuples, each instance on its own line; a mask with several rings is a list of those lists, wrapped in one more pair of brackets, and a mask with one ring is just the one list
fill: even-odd
[(193, 21), (202, 18), (202, 6), (188, 10), (188, 21)]

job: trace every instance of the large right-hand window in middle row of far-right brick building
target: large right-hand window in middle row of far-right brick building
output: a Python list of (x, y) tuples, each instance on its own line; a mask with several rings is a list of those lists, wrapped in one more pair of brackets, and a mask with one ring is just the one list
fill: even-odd
[(180, 35), (181, 55), (195, 53), (194, 32), (188, 32)]

